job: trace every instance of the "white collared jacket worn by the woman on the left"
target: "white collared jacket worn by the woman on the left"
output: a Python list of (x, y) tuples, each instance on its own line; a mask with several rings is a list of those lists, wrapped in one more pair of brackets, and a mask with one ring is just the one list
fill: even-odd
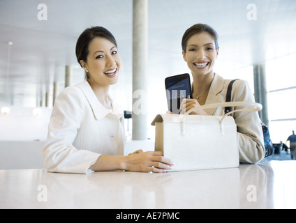
[(100, 155), (124, 154), (123, 111), (111, 102), (103, 107), (86, 80), (61, 91), (43, 148), (47, 171), (89, 174)]

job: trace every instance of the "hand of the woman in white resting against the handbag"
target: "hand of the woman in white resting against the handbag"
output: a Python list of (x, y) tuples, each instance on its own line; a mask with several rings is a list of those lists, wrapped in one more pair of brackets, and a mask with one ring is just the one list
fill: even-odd
[(167, 169), (172, 169), (173, 164), (170, 159), (163, 157), (163, 153), (160, 151), (143, 153), (142, 150), (138, 150), (126, 156), (122, 169), (126, 171), (163, 173)]

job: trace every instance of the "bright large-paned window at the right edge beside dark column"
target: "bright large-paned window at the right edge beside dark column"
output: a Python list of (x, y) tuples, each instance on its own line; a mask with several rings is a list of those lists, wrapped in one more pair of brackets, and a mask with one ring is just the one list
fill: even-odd
[(296, 54), (267, 61), (269, 131), (273, 143), (286, 140), (296, 130)]

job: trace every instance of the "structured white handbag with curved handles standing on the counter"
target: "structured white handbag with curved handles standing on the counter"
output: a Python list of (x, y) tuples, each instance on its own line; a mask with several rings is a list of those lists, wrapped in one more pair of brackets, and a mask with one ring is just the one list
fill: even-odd
[(163, 151), (175, 165), (172, 171), (218, 169), (239, 166), (237, 125), (229, 114), (259, 111), (262, 105), (253, 102), (224, 102), (203, 105), (213, 107), (248, 107), (224, 116), (158, 114), (151, 125), (156, 126), (155, 151)]

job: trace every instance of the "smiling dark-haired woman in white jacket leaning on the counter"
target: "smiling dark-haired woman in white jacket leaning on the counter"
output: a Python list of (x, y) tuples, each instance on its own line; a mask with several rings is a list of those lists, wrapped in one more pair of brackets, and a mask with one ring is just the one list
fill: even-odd
[(87, 79), (61, 91), (54, 103), (43, 148), (45, 169), (80, 174), (171, 169), (173, 163), (160, 152), (123, 155), (123, 111), (108, 94), (121, 64), (112, 33), (100, 26), (86, 29), (77, 40), (76, 56)]

